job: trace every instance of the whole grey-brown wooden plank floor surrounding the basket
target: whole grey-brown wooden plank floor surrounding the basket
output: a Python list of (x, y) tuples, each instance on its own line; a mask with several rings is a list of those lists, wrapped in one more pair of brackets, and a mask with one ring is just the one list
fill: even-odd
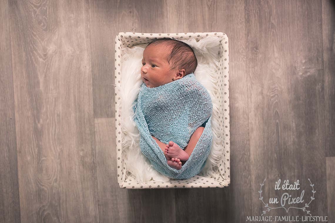
[[(246, 222), (300, 182), (335, 222), (335, 3), (0, 1), (0, 222)], [(231, 184), (125, 190), (116, 174), (118, 32), (229, 38)], [(304, 202), (304, 203), (305, 203)], [(300, 204), (301, 206), (301, 204)], [(301, 209), (265, 216), (307, 216)], [(263, 215), (264, 216), (264, 215)]]

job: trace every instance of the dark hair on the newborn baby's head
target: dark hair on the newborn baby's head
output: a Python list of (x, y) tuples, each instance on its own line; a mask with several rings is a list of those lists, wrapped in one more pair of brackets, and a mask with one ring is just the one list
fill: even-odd
[(171, 38), (160, 38), (151, 41), (147, 47), (149, 45), (155, 46), (158, 44), (163, 44), (171, 48), (171, 53), (169, 57), (167, 57), (167, 62), (169, 64), (171, 62), (170, 70), (178, 68), (180, 71), (181, 69), (185, 69), (185, 76), (195, 71), (198, 66), (198, 61), (190, 45)]

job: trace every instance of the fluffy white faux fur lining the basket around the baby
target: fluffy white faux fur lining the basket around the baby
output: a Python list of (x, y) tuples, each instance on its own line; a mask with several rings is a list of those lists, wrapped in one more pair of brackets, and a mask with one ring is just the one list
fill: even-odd
[[(199, 176), (217, 177), (218, 162), (222, 160), (223, 153), (220, 145), (222, 144), (222, 134), (220, 134), (219, 126), (219, 110), (220, 107), (216, 94), (218, 94), (218, 53), (220, 51), (219, 37), (206, 37), (196, 41), (195, 39), (183, 40), (189, 44), (197, 57), (198, 67), (194, 72), (196, 79), (208, 90), (213, 103), (212, 113), (212, 132), (213, 143), (210, 154), (207, 158), (206, 165)], [(126, 176), (133, 176), (141, 184), (154, 181), (169, 181), (170, 178), (160, 174), (153, 169), (148, 158), (145, 157), (139, 147), (140, 134), (133, 121), (134, 112), (132, 104), (142, 84), (141, 67), (143, 51), (146, 44), (140, 44), (131, 48), (122, 49), (123, 61), (121, 67), (121, 88), (115, 89), (121, 97), (121, 114), (122, 125), (122, 159), (126, 165)]]

